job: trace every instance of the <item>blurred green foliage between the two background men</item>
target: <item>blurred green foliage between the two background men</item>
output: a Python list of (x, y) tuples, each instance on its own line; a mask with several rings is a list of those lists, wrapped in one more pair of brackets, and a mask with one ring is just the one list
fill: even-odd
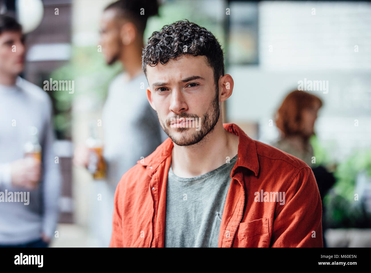
[(58, 139), (71, 139), (72, 101), (79, 95), (94, 95), (104, 101), (109, 82), (122, 70), (118, 62), (107, 66), (96, 46), (73, 47), (72, 57), (64, 65), (50, 74), (53, 81), (75, 81), (75, 92), (53, 91), (55, 100), (54, 124)]

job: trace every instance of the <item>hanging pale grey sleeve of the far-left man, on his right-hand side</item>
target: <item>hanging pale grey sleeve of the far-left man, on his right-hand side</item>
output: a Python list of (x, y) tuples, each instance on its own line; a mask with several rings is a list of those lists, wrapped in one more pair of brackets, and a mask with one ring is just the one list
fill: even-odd
[(53, 237), (56, 224), (59, 218), (59, 195), (61, 188), (61, 173), (59, 169), (59, 159), (53, 149), (55, 141), (52, 125), (52, 104), (48, 100), (47, 120), (45, 129), (45, 138), (43, 141), (43, 225), (42, 231), (50, 238)]

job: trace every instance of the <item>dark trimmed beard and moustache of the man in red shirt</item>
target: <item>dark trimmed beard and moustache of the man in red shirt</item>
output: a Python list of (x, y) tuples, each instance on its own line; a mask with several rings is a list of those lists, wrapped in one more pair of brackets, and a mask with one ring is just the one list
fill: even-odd
[[(162, 122), (160, 121), (160, 118), (158, 119), (160, 121), (161, 127), (164, 130), (164, 132), (170, 137), (170, 139), (173, 141), (173, 143), (177, 144), (178, 146), (191, 146), (193, 144), (196, 144), (200, 142), (207, 134), (209, 134), (211, 131), (214, 130), (215, 125), (217, 124), (220, 116), (220, 107), (219, 107), (219, 90), (216, 90), (216, 95), (214, 97), (214, 100), (211, 102), (209, 109), (207, 109), (206, 113), (203, 115), (203, 119), (201, 119), (201, 128), (199, 131), (196, 131), (193, 133), (190, 137), (181, 137), (181, 139), (175, 139), (175, 137), (170, 133), (168, 130), (168, 126), (170, 126), (170, 121)], [(158, 117), (158, 115), (157, 115)], [(181, 113), (179, 115), (179, 118), (198, 118), (195, 114), (187, 114), (187, 113)], [(200, 123), (199, 123), (200, 124)], [(187, 131), (189, 128), (183, 127), (183, 128), (177, 128), (178, 132)]]

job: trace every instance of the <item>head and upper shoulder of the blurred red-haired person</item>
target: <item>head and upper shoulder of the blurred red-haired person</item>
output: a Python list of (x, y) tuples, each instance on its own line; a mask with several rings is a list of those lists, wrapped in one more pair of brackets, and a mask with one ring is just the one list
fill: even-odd
[(273, 146), (311, 166), (313, 148), (309, 138), (314, 134), (314, 123), (321, 107), (322, 101), (315, 95), (299, 90), (288, 94), (276, 114), (282, 138)]

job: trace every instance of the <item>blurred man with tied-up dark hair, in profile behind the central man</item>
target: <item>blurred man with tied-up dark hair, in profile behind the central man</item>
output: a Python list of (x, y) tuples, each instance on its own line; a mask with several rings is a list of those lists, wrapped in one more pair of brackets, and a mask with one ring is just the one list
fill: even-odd
[[(107, 166), (104, 192), (109, 195), (105, 198), (109, 211), (95, 217), (104, 226), (100, 232), (105, 234), (103, 245), (107, 247), (112, 231), (114, 193), (121, 176), (167, 138), (158, 124), (156, 111), (147, 101), (148, 81), (142, 71), (144, 30), (148, 17), (157, 14), (157, 1), (120, 0), (107, 6), (101, 18), (99, 45), (105, 61), (108, 65), (119, 61), (125, 70), (111, 82), (102, 113), (103, 157)], [(74, 162), (88, 167), (86, 147), (75, 150)]]

